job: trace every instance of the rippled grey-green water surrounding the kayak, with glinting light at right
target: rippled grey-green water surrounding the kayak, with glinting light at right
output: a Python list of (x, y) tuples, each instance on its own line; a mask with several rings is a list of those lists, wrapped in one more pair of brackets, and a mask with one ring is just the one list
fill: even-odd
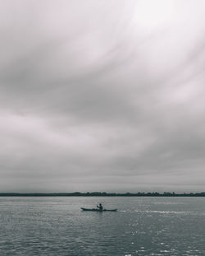
[(0, 198), (0, 255), (204, 256), (205, 198)]

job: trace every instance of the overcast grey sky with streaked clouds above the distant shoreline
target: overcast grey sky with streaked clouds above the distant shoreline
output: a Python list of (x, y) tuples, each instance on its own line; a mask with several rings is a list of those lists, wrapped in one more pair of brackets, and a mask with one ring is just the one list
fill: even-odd
[(0, 0), (0, 192), (205, 191), (205, 1)]

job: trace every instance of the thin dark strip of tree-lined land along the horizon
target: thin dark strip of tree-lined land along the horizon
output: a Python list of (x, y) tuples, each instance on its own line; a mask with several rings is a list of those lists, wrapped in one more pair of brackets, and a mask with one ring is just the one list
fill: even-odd
[(74, 193), (0, 193), (0, 197), (205, 197), (201, 193), (107, 193), (107, 192), (74, 192)]

